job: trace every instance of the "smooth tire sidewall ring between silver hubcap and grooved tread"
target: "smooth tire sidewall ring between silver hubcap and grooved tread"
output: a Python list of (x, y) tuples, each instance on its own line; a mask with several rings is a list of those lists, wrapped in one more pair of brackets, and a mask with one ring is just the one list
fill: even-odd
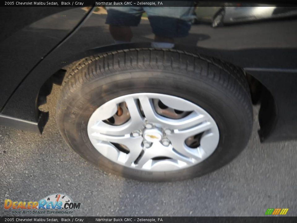
[[(90, 116), (107, 101), (134, 93), (169, 94), (202, 107), (217, 123), (220, 132), (217, 149), (199, 164), (170, 172), (128, 168), (101, 155), (88, 138)], [(169, 71), (133, 70), (96, 78), (82, 85), (62, 107), (58, 123), (76, 152), (107, 172), (138, 180), (181, 180), (220, 168), (243, 150), (252, 130), (252, 117), (248, 111), (251, 108), (242, 106), (240, 100), (223, 86), (208, 77), (197, 78)]]

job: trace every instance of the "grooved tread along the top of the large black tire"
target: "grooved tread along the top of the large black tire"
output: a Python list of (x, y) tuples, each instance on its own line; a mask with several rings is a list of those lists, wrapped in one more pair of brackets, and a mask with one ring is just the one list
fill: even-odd
[[(154, 63), (155, 62), (155, 63)], [(95, 64), (95, 69), (90, 64)], [(91, 70), (90, 70), (91, 68)], [(84, 83), (121, 70), (158, 69), (186, 72), (188, 75), (205, 76), (230, 91), (251, 110), (251, 95), (245, 74), (241, 68), (222, 60), (171, 49), (129, 49), (90, 56), (73, 63), (67, 71), (57, 112), (61, 103), (75, 93)]]

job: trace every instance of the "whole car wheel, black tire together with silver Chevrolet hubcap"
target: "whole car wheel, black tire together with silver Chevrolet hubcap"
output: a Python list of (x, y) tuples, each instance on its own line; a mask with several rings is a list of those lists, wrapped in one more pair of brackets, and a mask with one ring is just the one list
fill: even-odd
[(57, 106), (60, 132), (83, 158), (145, 181), (181, 180), (222, 167), (246, 146), (252, 116), (241, 69), (156, 49), (81, 60)]

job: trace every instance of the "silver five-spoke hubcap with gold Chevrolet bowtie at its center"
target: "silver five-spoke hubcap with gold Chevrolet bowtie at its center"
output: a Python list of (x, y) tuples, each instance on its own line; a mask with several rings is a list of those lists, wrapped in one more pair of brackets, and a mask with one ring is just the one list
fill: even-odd
[(146, 171), (187, 168), (217, 148), (219, 130), (201, 107), (166, 94), (140, 93), (101, 105), (88, 137), (106, 158)]

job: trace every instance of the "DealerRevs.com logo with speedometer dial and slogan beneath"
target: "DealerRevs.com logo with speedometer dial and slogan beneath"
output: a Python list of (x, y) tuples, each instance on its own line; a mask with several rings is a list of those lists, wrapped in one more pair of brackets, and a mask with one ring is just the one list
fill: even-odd
[(40, 201), (12, 201), (6, 199), (4, 208), (12, 214), (72, 214), (74, 209), (80, 209), (80, 203), (63, 194), (52, 194)]

